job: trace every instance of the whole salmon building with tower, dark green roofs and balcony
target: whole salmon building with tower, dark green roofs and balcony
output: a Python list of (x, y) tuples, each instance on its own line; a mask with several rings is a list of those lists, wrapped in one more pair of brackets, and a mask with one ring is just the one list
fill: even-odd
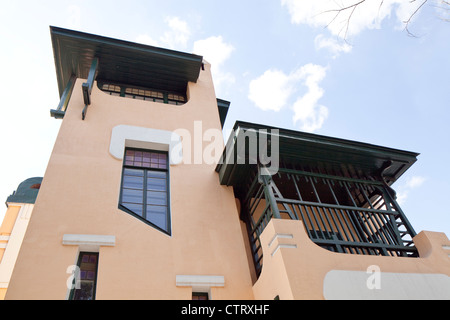
[(6, 299), (450, 298), (450, 241), (391, 188), (417, 153), (247, 122), (224, 145), (202, 57), (50, 32), (62, 124)]

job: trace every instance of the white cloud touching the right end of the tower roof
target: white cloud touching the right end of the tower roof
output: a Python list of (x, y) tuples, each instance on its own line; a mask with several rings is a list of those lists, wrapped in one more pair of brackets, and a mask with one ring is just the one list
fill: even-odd
[(230, 58), (234, 50), (234, 47), (226, 43), (222, 36), (212, 36), (194, 42), (193, 53), (203, 56), (211, 64), (211, 73), (217, 92), (220, 92), (225, 84), (235, 81), (231, 73), (222, 70), (223, 64)]

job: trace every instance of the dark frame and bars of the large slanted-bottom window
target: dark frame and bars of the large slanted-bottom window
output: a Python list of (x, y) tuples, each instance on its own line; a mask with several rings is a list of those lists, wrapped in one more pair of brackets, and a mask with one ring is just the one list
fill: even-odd
[[(138, 167), (138, 166), (132, 166), (132, 165), (126, 165), (126, 152), (128, 150), (132, 151), (138, 151), (138, 152), (151, 152), (151, 153), (158, 153), (158, 154), (164, 154), (166, 155), (166, 169), (160, 169), (160, 168), (146, 168), (146, 167)], [(144, 185), (142, 189), (142, 216), (133, 212), (133, 210), (127, 208), (125, 205), (122, 204), (122, 197), (123, 197), (123, 191), (124, 191), (124, 177), (125, 177), (125, 169), (134, 169), (134, 170), (142, 170), (144, 172)], [(160, 226), (156, 225), (155, 223), (149, 221), (147, 219), (147, 179), (148, 179), (148, 172), (165, 172), (166, 173), (166, 226), (167, 229), (163, 229)], [(153, 150), (153, 149), (140, 149), (140, 148), (133, 148), (133, 147), (125, 147), (124, 150), (124, 156), (123, 156), (123, 163), (122, 163), (122, 178), (120, 183), (120, 194), (119, 194), (119, 209), (122, 211), (127, 212), (128, 214), (132, 215), (133, 217), (141, 220), (142, 222), (152, 226), (153, 228), (167, 234), (172, 234), (172, 221), (171, 221), (171, 210), (170, 210), (170, 165), (169, 165), (169, 153), (167, 151), (160, 151), (160, 150)]]

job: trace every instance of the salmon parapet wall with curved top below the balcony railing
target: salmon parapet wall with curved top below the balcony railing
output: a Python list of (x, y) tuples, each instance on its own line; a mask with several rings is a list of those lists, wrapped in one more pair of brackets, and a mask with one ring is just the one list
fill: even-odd
[[(277, 236), (278, 235), (278, 236)], [(335, 253), (314, 244), (301, 221), (272, 219), (261, 235), (262, 273), (254, 285), (255, 299), (324, 299), (323, 285), (331, 270), (435, 273), (450, 276), (444, 233), (422, 231), (414, 237), (420, 258), (381, 257)], [(276, 250), (278, 248), (278, 250)]]

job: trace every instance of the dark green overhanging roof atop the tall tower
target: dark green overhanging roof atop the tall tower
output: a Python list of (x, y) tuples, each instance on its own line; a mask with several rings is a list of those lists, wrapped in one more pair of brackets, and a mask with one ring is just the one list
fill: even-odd
[(174, 92), (197, 82), (203, 61), (194, 54), (53, 26), (50, 34), (60, 96), (72, 74), (87, 79), (94, 57), (97, 80)]

